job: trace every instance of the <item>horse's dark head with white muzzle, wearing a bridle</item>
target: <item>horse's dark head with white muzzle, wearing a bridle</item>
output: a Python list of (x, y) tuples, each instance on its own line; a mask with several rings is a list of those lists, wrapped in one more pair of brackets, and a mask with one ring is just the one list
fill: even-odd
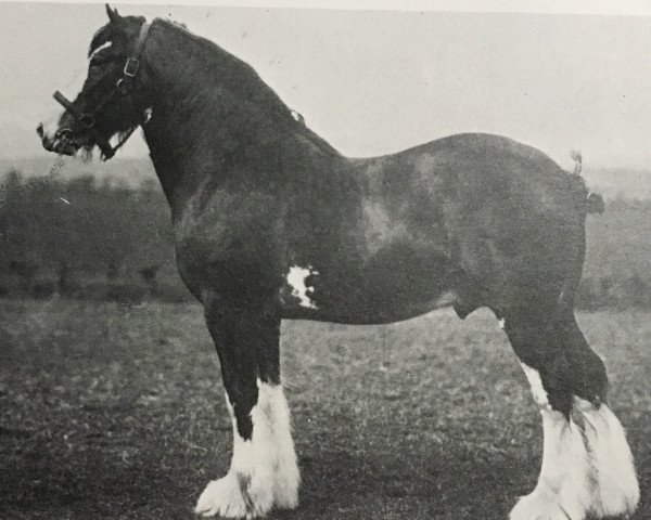
[(37, 127), (43, 147), (50, 152), (75, 155), (97, 145), (107, 159), (115, 153), (111, 138), (122, 134), (126, 140), (143, 121), (143, 108), (137, 101), (137, 76), (141, 76), (139, 58), (149, 24), (142, 17), (123, 17), (108, 5), (106, 13), (108, 24), (90, 42), (90, 63), (81, 91), (74, 93), (74, 101), (58, 91), (54, 99), (64, 106), (63, 114), (51, 128), (42, 123)]

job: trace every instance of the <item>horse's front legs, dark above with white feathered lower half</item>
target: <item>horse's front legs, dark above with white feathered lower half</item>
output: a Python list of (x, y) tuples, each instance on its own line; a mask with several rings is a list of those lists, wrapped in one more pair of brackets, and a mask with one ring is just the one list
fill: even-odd
[(256, 518), (298, 504), (298, 466), (280, 382), (280, 315), (273, 304), (205, 304), (233, 424), (226, 477), (208, 483), (195, 512)]

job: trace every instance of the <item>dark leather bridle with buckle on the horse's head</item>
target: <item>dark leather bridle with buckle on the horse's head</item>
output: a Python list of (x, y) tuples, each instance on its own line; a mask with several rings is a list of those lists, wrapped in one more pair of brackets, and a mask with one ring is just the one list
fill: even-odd
[[(138, 39), (133, 44), (133, 52), (131, 56), (127, 57), (127, 62), (125, 63), (122, 78), (117, 80), (115, 88), (104, 96), (104, 99), (92, 112), (87, 113), (78, 110), (75, 105), (60, 91), (54, 92), (54, 100), (60, 103), (69, 114), (72, 114), (73, 117), (91, 133), (94, 143), (102, 151), (103, 160), (108, 160), (111, 157), (113, 157), (115, 152), (117, 152), (117, 150), (125, 144), (129, 136), (136, 131), (136, 128), (146, 120), (146, 116), (143, 114), (138, 121), (138, 125), (128, 130), (115, 146), (112, 146), (106, 138), (100, 135), (100, 132), (95, 126), (98, 115), (104, 112), (110, 103), (112, 103), (116, 98), (126, 98), (133, 89), (136, 76), (138, 75), (138, 70), (140, 68), (140, 56), (144, 50), (144, 43), (146, 41), (150, 27), (151, 24), (148, 24), (146, 22), (142, 24), (140, 27), (140, 32), (138, 34)], [(56, 138), (61, 140), (64, 146), (75, 145), (74, 132), (69, 128), (60, 129), (56, 132)]]

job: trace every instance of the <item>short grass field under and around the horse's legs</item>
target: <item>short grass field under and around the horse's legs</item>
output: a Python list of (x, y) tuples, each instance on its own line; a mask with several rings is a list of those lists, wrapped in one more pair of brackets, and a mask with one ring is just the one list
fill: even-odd
[[(582, 314), (651, 518), (651, 313)], [(495, 320), (283, 324), (303, 473), (281, 519), (505, 520), (541, 427)], [(193, 304), (0, 300), (0, 519), (183, 519), (228, 467), (217, 356)], [(633, 520), (633, 519), (631, 519)]]

